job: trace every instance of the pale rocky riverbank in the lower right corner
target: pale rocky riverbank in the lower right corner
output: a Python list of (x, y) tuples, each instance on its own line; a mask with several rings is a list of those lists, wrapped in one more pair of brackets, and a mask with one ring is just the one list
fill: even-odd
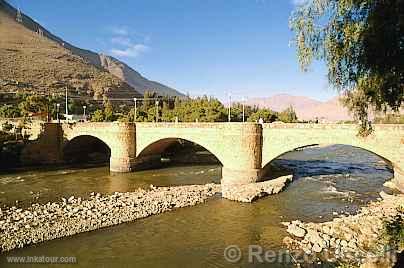
[(384, 237), (385, 223), (404, 206), (404, 194), (381, 192), (380, 196), (380, 200), (361, 208), (356, 215), (339, 216), (323, 223), (284, 222), (293, 237), (285, 237), (284, 244), (323, 261), (392, 267), (396, 256)]

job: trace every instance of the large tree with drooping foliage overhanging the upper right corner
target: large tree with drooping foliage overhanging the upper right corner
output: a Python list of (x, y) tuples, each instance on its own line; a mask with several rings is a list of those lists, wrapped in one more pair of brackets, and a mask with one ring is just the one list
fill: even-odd
[(367, 133), (372, 108), (404, 101), (404, 0), (310, 0), (290, 19), (303, 70), (324, 60), (328, 79)]

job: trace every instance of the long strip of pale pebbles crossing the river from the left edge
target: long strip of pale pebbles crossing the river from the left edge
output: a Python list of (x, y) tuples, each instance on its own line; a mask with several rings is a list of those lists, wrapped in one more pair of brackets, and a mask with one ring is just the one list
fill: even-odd
[(192, 206), (219, 191), (217, 184), (151, 187), (111, 195), (93, 193), (88, 200), (71, 196), (26, 210), (0, 210), (0, 252)]

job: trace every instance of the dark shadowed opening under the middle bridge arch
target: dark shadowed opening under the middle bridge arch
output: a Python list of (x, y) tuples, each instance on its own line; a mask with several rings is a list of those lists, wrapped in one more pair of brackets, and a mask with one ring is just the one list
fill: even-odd
[(136, 157), (137, 169), (162, 166), (222, 165), (205, 147), (180, 138), (165, 138), (146, 146)]

